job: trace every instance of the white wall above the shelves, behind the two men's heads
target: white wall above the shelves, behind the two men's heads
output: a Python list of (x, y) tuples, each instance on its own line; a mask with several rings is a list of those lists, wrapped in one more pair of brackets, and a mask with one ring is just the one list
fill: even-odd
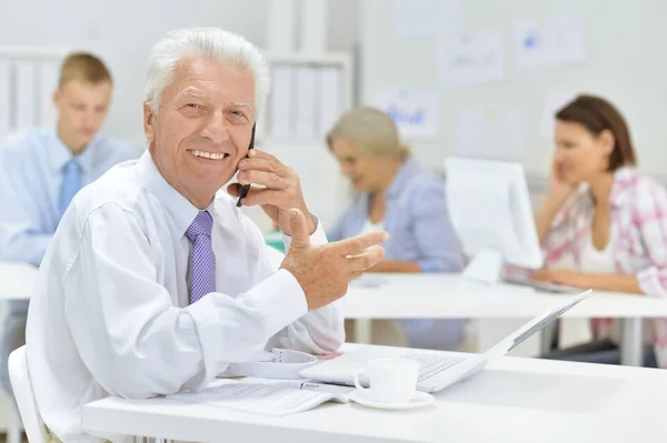
[[(218, 26), (263, 47), (268, 4), (269, 0), (0, 0), (0, 46), (59, 46), (99, 54), (116, 80), (104, 132), (142, 144), (141, 103), (151, 46), (176, 28)], [(357, 30), (357, 2), (331, 0), (329, 49), (351, 50)]]

